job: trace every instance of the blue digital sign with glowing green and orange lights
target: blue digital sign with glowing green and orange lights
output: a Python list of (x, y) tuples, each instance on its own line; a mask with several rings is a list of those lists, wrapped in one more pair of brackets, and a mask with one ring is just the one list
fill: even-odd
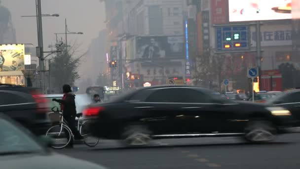
[(217, 51), (249, 50), (249, 27), (216, 27)]

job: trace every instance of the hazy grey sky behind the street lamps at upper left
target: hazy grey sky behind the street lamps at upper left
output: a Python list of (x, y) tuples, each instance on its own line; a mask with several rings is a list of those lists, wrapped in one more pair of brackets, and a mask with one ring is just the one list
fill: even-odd
[[(21, 17), (22, 15), (36, 15), (35, 0), (1, 0), (12, 15), (16, 28), (18, 43), (33, 43), (37, 45), (37, 20), (35, 17)], [(80, 51), (86, 50), (91, 40), (96, 38), (99, 31), (105, 28), (105, 7), (99, 0), (41, 0), (42, 14), (58, 13), (60, 17), (43, 17), (44, 50), (53, 42), (54, 33), (65, 32), (65, 18), (71, 32), (83, 32), (84, 35), (69, 35), (69, 42), (82, 44)]]

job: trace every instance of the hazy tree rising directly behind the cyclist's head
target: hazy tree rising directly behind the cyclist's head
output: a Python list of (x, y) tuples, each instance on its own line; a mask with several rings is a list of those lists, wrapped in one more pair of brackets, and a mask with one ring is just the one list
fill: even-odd
[(75, 80), (79, 79), (78, 66), (80, 64), (80, 59), (85, 54), (73, 57), (75, 50), (70, 48), (66, 50), (66, 46), (61, 47), (61, 52), (57, 53), (55, 57), (51, 60), (51, 79), (53, 88), (61, 87), (64, 84), (74, 85)]

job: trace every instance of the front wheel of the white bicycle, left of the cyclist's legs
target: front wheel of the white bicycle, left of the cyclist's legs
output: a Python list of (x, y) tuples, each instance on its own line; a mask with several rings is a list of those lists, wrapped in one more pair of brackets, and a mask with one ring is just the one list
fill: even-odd
[(63, 125), (62, 128), (60, 125), (57, 125), (50, 127), (46, 132), (46, 136), (51, 138), (52, 148), (62, 149), (70, 143), (72, 139), (72, 132), (70, 131), (69, 127), (65, 125)]

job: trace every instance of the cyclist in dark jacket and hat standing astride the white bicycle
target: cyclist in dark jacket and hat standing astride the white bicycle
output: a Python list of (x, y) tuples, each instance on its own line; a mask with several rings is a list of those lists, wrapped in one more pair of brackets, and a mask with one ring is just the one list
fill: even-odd
[[(75, 105), (75, 95), (72, 93), (71, 86), (65, 84), (63, 86), (64, 96), (63, 99), (53, 99), (61, 104), (61, 110), (63, 111), (64, 119), (68, 123), (68, 127), (72, 130), (75, 140), (82, 140), (83, 137), (80, 135), (79, 131), (76, 128), (76, 105)], [(73, 147), (73, 139), (71, 139), (70, 147)]]

